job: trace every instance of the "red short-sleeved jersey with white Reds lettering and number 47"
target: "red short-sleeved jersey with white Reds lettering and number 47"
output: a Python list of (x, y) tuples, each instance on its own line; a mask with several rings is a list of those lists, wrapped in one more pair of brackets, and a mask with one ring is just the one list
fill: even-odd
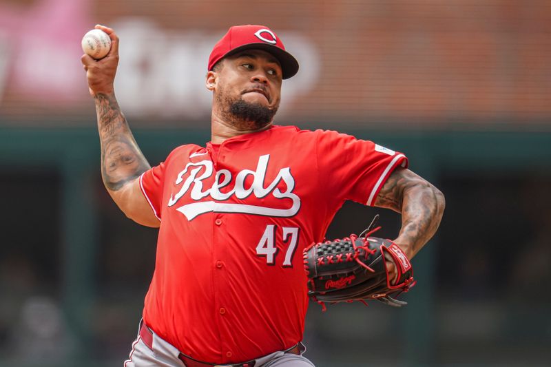
[(160, 220), (143, 317), (181, 352), (248, 361), (302, 340), (302, 250), (345, 200), (373, 205), (404, 154), (337, 132), (274, 126), (183, 145), (141, 187)]

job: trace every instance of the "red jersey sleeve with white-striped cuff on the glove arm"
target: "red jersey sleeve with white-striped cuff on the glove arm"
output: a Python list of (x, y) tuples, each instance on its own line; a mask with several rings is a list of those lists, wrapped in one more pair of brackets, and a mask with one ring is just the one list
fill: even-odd
[(407, 167), (403, 153), (369, 140), (318, 130), (317, 160), (320, 184), (338, 200), (373, 206), (375, 198), (396, 167)]

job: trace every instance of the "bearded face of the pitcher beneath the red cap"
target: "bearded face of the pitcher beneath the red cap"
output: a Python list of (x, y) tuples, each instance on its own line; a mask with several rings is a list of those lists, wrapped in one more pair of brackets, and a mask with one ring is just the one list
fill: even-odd
[(239, 129), (271, 123), (278, 111), (282, 70), (268, 52), (245, 50), (228, 56), (216, 72), (214, 96), (221, 117)]

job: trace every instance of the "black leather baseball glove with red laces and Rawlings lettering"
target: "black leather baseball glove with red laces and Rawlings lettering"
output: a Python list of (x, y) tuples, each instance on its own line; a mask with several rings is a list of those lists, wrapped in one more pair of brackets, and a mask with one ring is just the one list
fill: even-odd
[[(402, 250), (391, 240), (370, 237), (378, 215), (360, 236), (311, 244), (304, 249), (304, 269), (309, 277), (311, 299), (320, 303), (378, 300), (404, 306), (395, 299), (415, 285), (413, 268)], [(364, 237), (362, 235), (365, 234)], [(389, 279), (387, 263), (395, 264), (397, 277)]]

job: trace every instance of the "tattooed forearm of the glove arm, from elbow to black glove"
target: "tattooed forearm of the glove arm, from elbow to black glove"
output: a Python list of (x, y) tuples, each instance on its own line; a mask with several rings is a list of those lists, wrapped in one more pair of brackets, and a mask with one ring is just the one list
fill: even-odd
[(402, 229), (395, 239), (409, 258), (413, 258), (433, 238), (444, 214), (444, 195), (424, 181), (404, 189), (402, 199)]

